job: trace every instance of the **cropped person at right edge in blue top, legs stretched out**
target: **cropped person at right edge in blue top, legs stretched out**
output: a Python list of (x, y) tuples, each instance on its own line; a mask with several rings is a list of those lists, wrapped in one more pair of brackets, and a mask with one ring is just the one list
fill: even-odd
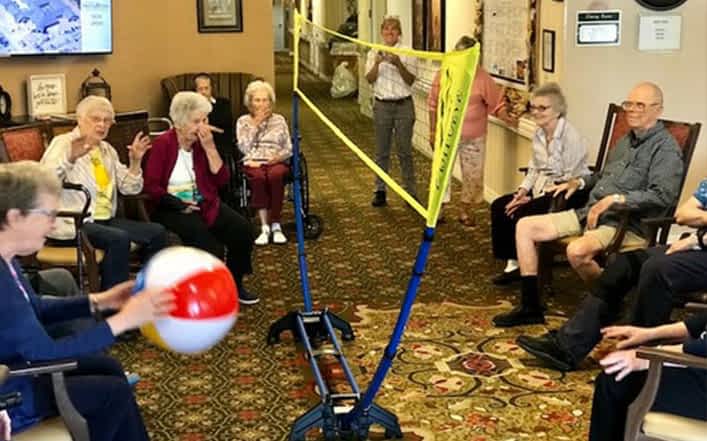
[(546, 365), (575, 369), (602, 338), (601, 328), (619, 316), (624, 298), (638, 289), (638, 301), (629, 318), (636, 326), (657, 326), (670, 319), (673, 298), (707, 289), (707, 179), (678, 209), (676, 220), (699, 228), (669, 248), (624, 253), (601, 274), (577, 312), (560, 329), (540, 337), (521, 335), (518, 345)]

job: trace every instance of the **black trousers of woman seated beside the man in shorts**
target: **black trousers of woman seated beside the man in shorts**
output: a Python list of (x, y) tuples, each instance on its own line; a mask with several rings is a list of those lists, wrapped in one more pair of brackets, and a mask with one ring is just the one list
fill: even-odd
[[(567, 209), (584, 206), (587, 196), (586, 191), (575, 192), (567, 201)], [(491, 244), (493, 255), (497, 259), (517, 259), (516, 225), (518, 221), (525, 216), (545, 214), (550, 211), (552, 204), (550, 195), (544, 195), (522, 205), (512, 216), (507, 216), (506, 205), (511, 200), (513, 200), (513, 193), (500, 196), (491, 203)]]

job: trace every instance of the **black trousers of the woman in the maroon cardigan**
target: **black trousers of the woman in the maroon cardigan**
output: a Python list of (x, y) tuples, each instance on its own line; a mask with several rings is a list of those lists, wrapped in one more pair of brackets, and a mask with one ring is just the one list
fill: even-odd
[(223, 259), (225, 247), (226, 266), (237, 281), (243, 274), (253, 272), (253, 226), (228, 205), (220, 204), (218, 216), (210, 227), (196, 212), (158, 210), (153, 218), (176, 233), (184, 245), (208, 251), (219, 259)]

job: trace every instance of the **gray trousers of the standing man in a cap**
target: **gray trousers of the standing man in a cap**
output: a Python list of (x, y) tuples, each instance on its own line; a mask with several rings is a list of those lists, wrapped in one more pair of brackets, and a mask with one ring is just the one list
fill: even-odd
[[(415, 124), (412, 98), (390, 102), (375, 100), (373, 120), (376, 127), (376, 164), (386, 173), (390, 169), (391, 143), (395, 133), (403, 186), (408, 193), (417, 197), (415, 169), (412, 165), (412, 127)], [(379, 177), (376, 177), (376, 191), (385, 191), (385, 183)]]

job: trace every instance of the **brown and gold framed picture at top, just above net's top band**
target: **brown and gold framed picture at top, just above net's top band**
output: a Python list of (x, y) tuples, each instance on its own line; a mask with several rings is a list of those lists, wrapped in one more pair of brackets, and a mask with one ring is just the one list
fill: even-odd
[(412, 0), (412, 47), (444, 52), (445, 0)]

